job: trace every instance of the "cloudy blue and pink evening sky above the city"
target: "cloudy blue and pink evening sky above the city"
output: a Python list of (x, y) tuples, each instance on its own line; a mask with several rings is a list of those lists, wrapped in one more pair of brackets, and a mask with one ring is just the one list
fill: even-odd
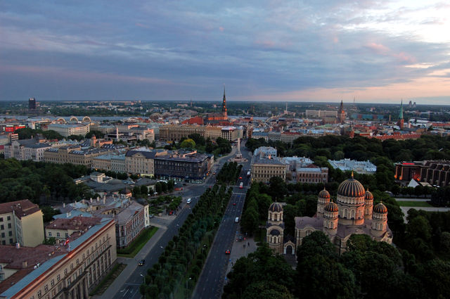
[(450, 2), (0, 1), (0, 101), (450, 104)]

